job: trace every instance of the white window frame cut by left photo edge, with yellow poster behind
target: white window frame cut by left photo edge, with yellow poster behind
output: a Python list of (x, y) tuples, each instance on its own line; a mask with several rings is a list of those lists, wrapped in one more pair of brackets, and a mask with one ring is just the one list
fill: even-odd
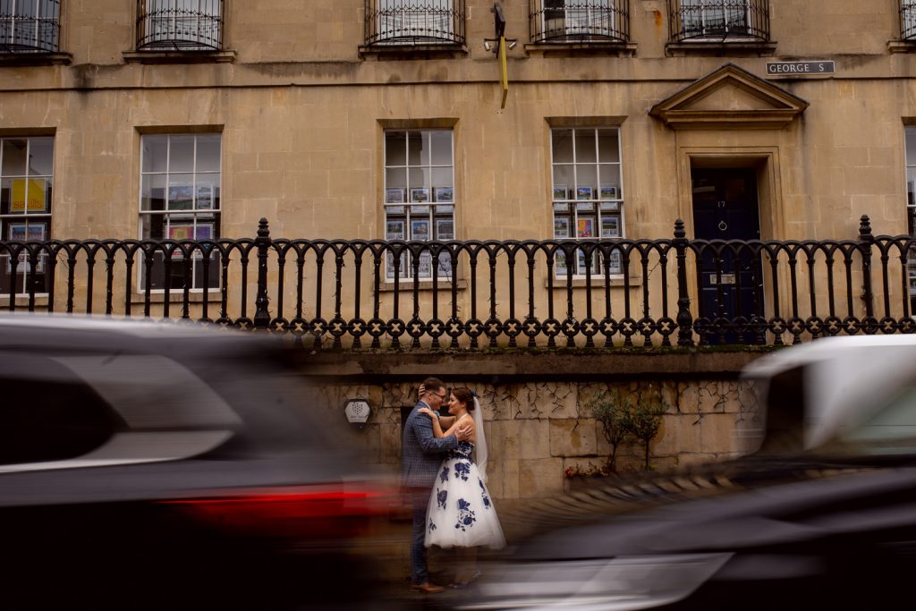
[[(38, 140), (49, 141), (50, 142), (50, 159), (49, 159), (49, 173), (32, 173), (31, 164), (26, 161), (26, 171), (23, 174), (19, 173), (10, 173), (5, 174), (4, 171), (4, 151), (5, 151), (5, 142), (11, 140), (25, 140), (26, 141), (26, 153), (25, 158), (32, 158), (32, 147), (37, 143)], [(54, 136), (9, 136), (9, 137), (0, 137), (0, 184), (3, 184), (7, 181), (10, 183), (10, 206), (13, 204), (13, 191), (14, 185), (13, 182), (16, 180), (22, 181), (23, 187), (23, 210), (21, 213), (13, 213), (12, 211), (7, 211), (5, 213), (0, 213), (0, 226), (2, 226), (3, 235), (0, 239), (4, 241), (22, 241), (22, 242), (32, 242), (40, 241), (46, 242), (51, 239), (51, 213), (53, 211), (53, 205), (51, 199), (54, 192)], [(29, 210), (34, 202), (31, 191), (38, 187), (36, 181), (43, 180), (45, 183), (45, 192), (43, 201), (43, 210)], [(50, 191), (50, 194), (49, 194)], [(38, 223), (30, 223), (30, 221), (35, 220)], [(35, 227), (40, 228), (40, 233), (37, 233), (34, 230)], [(19, 260), (16, 263), (16, 270), (14, 271), (12, 261), (10, 261), (11, 256), (9, 255), (0, 255), (0, 266), (3, 266), (3, 272), (5, 275), (15, 274), (16, 277), (22, 276), (22, 290), (14, 291), (15, 295), (27, 295), (28, 283), (26, 281), (27, 276), (31, 275), (32, 269), (31, 265), (28, 262), (28, 256), (26, 254), (20, 254)], [(42, 253), (38, 256), (38, 274), (47, 274), (48, 267), (47, 254)], [(13, 280), (18, 284), (18, 280)], [(47, 278), (46, 278), (47, 281)], [(37, 295), (48, 295), (47, 291), (38, 291)], [(0, 297), (4, 295), (9, 295), (8, 290), (0, 291)]]

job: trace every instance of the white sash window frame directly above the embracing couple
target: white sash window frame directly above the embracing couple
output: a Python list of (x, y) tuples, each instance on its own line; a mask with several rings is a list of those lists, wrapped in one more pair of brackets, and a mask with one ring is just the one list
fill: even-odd
[[(432, 163), (431, 138), (432, 134), (434, 133), (449, 135), (449, 155), (451, 160), (450, 164)], [(403, 134), (405, 136), (403, 165), (389, 163), (388, 136), (392, 134)], [(429, 158), (428, 163), (423, 163), (422, 159), (420, 160), (419, 164), (410, 163), (410, 134), (420, 134), (420, 138), (423, 140), (424, 145), (429, 145), (429, 150), (427, 151), (427, 156)], [(454, 142), (454, 130), (451, 127), (385, 130), (384, 147), (382, 153), (382, 172), (385, 177), (385, 187), (382, 191), (382, 205), (384, 209), (383, 217), (385, 223), (386, 240), (438, 240), (446, 242), (455, 239), (455, 206), (457, 205), (458, 197), (457, 191), (455, 190), (454, 180)], [(399, 169), (404, 170), (404, 184), (389, 183), (389, 173), (391, 173), (392, 170)], [(449, 184), (436, 184), (437, 181), (433, 180), (433, 175), (442, 173), (441, 171), (436, 172), (436, 169), (448, 169), (449, 176), (445, 181), (449, 182)], [(424, 176), (421, 186), (416, 186), (418, 182), (411, 176), (411, 173), (417, 172), (420, 173), (420, 176)], [(429, 198), (429, 202), (413, 202), (412, 191), (415, 189), (426, 190), (426, 195)], [(437, 191), (442, 189), (450, 189), (451, 195), (449, 196), (442, 191)], [(402, 191), (399, 195), (396, 193), (398, 190)], [(451, 201), (444, 199), (446, 197), (448, 197)], [(393, 200), (397, 200), (398, 198), (402, 198), (403, 203), (393, 202)], [(424, 236), (422, 234), (415, 234), (414, 229), (421, 228), (424, 223), (426, 223), (426, 235)], [(397, 224), (401, 224), (400, 231), (397, 231), (397, 227), (395, 226)], [(449, 227), (451, 227), (451, 232), (447, 231)], [(418, 271), (419, 279), (421, 281), (432, 279), (431, 267), (431, 255), (429, 253), (420, 254), (420, 266), (418, 267)], [(436, 273), (439, 279), (451, 281), (453, 277), (452, 259), (450, 256), (448, 256), (447, 253), (442, 253), (440, 256), (439, 264), (436, 266)], [(384, 274), (386, 282), (394, 283), (394, 266), (392, 264), (392, 256), (390, 253), (387, 253), (386, 255)], [(401, 256), (400, 271), (398, 273), (398, 281), (404, 280), (413, 280), (413, 261), (412, 258), (409, 260), (407, 254)]]

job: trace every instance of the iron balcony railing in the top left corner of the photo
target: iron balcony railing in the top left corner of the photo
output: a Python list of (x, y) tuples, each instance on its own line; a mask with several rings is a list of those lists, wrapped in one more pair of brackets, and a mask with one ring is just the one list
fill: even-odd
[(0, 53), (54, 53), (60, 0), (0, 0)]

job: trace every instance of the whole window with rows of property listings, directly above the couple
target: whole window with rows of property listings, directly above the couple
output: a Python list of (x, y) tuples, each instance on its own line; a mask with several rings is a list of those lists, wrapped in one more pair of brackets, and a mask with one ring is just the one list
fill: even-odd
[[(385, 239), (438, 240), (455, 238), (454, 155), (450, 129), (385, 132)], [(418, 278), (432, 278), (430, 253), (420, 255)], [(452, 277), (452, 260), (439, 257), (439, 278)], [(413, 261), (401, 256), (398, 280), (412, 279)], [(393, 256), (388, 255), (385, 279), (393, 282)]]

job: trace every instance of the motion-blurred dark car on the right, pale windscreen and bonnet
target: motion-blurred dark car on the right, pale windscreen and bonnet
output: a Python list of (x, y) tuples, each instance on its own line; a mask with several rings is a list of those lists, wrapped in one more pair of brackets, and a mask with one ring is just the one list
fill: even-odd
[[(916, 338), (822, 339), (746, 376), (757, 453), (626, 486), (653, 507), (531, 537), (459, 608), (913, 608)], [(676, 490), (701, 475), (716, 489)]]

